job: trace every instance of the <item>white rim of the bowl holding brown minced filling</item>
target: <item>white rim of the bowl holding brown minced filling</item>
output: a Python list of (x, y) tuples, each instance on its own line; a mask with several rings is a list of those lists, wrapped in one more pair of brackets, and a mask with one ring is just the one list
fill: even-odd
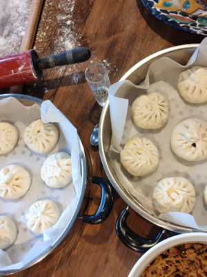
[(155, 247), (152, 247), (147, 251), (135, 264), (135, 266), (130, 271), (128, 277), (139, 277), (143, 273), (144, 269), (155, 260), (155, 258), (162, 253), (163, 251), (174, 247), (177, 244), (185, 244), (187, 242), (195, 243), (207, 243), (207, 234), (206, 233), (188, 233), (182, 235), (176, 235), (175, 237), (168, 238), (163, 242), (159, 242)]

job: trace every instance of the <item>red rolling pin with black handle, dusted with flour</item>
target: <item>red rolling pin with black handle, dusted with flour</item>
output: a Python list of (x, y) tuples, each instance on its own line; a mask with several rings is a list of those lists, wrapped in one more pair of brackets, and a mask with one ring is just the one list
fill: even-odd
[(86, 62), (88, 59), (90, 50), (84, 47), (41, 58), (34, 50), (0, 57), (0, 89), (42, 80), (42, 69)]

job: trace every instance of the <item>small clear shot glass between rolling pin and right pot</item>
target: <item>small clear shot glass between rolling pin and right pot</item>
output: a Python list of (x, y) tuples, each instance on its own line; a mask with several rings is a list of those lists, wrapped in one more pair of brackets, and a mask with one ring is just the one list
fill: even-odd
[(86, 69), (85, 75), (93, 95), (99, 105), (103, 107), (108, 98), (108, 89), (110, 87), (106, 67), (103, 64), (91, 64)]

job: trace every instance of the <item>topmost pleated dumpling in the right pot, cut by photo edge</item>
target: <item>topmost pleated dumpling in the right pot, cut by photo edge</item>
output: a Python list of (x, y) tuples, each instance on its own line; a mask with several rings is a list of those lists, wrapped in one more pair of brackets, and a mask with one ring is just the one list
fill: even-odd
[(177, 87), (181, 96), (190, 103), (207, 101), (207, 68), (194, 66), (179, 75)]

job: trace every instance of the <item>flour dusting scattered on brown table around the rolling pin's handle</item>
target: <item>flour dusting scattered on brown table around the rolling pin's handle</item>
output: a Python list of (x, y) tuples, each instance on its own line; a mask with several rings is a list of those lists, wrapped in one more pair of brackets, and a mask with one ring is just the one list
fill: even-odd
[[(0, 0), (1, 1), (1, 0)], [(44, 9), (41, 15), (41, 20), (39, 24), (39, 30), (37, 32), (37, 37), (35, 41), (35, 47), (39, 56), (43, 56), (46, 54), (42, 54), (42, 46), (43, 51), (46, 51), (47, 42), (50, 41), (50, 46), (47, 48), (48, 55), (52, 55), (55, 53), (61, 53), (63, 51), (67, 51), (72, 48), (82, 47), (83, 38), (76, 31), (77, 20), (79, 15), (79, 10), (75, 6), (76, 0), (46, 0)], [(53, 10), (57, 11), (57, 17), (54, 19)], [(57, 30), (58, 26), (58, 30)], [(51, 43), (52, 39), (52, 43)], [(89, 46), (90, 48), (90, 46)], [(50, 50), (51, 49), (51, 50)], [(54, 71), (55, 78), (59, 78), (68, 82), (68, 86), (74, 86), (76, 84), (80, 84), (82, 82), (86, 82), (84, 77), (84, 72), (86, 68), (90, 64), (101, 63), (106, 66), (108, 71), (109, 78), (113, 78), (115, 75), (117, 76), (117, 66), (112, 64), (108, 60), (100, 60), (96, 57), (95, 51), (92, 51), (92, 56), (88, 62), (84, 62), (82, 64), (74, 64), (71, 66), (60, 66), (55, 69), (51, 69)], [(41, 84), (42, 86), (43, 84)], [(35, 86), (35, 84), (33, 85)], [(70, 88), (68, 89), (70, 90)], [(39, 89), (39, 84), (34, 89)], [(49, 93), (52, 88), (48, 87), (46, 83), (43, 85), (43, 92)], [(79, 86), (77, 86), (79, 89)]]

